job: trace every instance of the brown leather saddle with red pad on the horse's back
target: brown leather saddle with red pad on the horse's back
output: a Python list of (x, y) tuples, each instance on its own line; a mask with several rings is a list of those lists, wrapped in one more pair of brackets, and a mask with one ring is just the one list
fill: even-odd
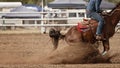
[[(88, 36), (92, 36), (95, 38), (97, 26), (98, 21), (94, 19), (83, 19), (82, 22), (78, 23), (77, 30), (82, 34), (83, 39), (87, 38), (86, 40), (88, 40), (90, 39), (90, 37)], [(100, 40), (105, 40), (103, 35)]]

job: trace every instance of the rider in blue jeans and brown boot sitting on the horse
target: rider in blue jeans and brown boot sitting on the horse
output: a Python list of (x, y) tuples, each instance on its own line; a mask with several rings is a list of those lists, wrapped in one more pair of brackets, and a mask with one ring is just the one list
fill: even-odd
[(100, 4), (102, 0), (89, 0), (89, 3), (87, 5), (86, 11), (87, 11), (87, 16), (89, 18), (96, 19), (98, 21), (98, 27), (96, 31), (96, 39), (100, 40), (102, 37), (102, 29), (104, 25), (104, 20), (102, 16), (100, 16)]

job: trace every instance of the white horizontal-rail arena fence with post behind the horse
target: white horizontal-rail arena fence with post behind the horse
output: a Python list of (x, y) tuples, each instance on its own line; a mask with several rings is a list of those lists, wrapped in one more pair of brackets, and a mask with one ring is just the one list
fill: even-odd
[[(41, 27), (41, 33), (45, 31), (44, 27), (53, 27), (53, 26), (75, 26), (78, 22), (82, 21), (83, 18), (86, 18), (85, 11), (77, 11), (74, 13), (82, 14), (81, 16), (76, 14), (73, 17), (69, 17), (70, 12), (29, 12), (29, 14), (40, 14), (39, 18), (5, 18), (2, 15), (5, 14), (28, 14), (28, 12), (0, 12), (0, 26), (39, 26)], [(72, 12), (73, 13), (73, 12)], [(57, 14), (57, 15), (56, 15)], [(27, 21), (27, 24), (23, 23), (23, 21)], [(29, 21), (34, 21), (34, 23), (29, 23)], [(38, 23), (39, 21), (39, 23)], [(66, 21), (67, 23), (57, 21)], [(73, 22), (73, 23), (70, 23)], [(120, 25), (117, 26), (117, 29), (120, 29)]]

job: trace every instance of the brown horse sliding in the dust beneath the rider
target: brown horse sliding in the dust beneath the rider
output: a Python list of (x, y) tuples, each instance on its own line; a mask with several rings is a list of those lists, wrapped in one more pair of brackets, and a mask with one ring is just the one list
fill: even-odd
[[(110, 49), (109, 39), (114, 35), (115, 33), (115, 27), (119, 23), (120, 20), (120, 3), (116, 5), (115, 8), (113, 8), (109, 13), (102, 15), (105, 21), (104, 27), (102, 29), (102, 36), (104, 39), (100, 40), (103, 44), (103, 52), (102, 54), (106, 54)], [(49, 31), (49, 36), (53, 39), (53, 45), (55, 49), (58, 46), (59, 39), (63, 38), (69, 45), (73, 45), (74, 43), (90, 43), (95, 44), (97, 40), (95, 39), (95, 32), (98, 24), (98, 21), (91, 19), (88, 21), (88, 28), (87, 30), (82, 30), (82, 28), (79, 28), (77, 26), (71, 27), (68, 32), (65, 35), (62, 35), (60, 31), (57, 31), (55, 29), (51, 29)], [(86, 29), (86, 28), (85, 28)]]

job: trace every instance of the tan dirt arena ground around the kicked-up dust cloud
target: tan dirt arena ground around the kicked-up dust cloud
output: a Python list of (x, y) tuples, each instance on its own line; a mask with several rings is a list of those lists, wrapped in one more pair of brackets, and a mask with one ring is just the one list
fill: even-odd
[[(120, 68), (120, 33), (110, 39), (112, 63), (42, 65), (39, 61), (53, 51), (48, 34), (0, 32), (0, 68)], [(58, 49), (66, 45), (61, 40)]]

